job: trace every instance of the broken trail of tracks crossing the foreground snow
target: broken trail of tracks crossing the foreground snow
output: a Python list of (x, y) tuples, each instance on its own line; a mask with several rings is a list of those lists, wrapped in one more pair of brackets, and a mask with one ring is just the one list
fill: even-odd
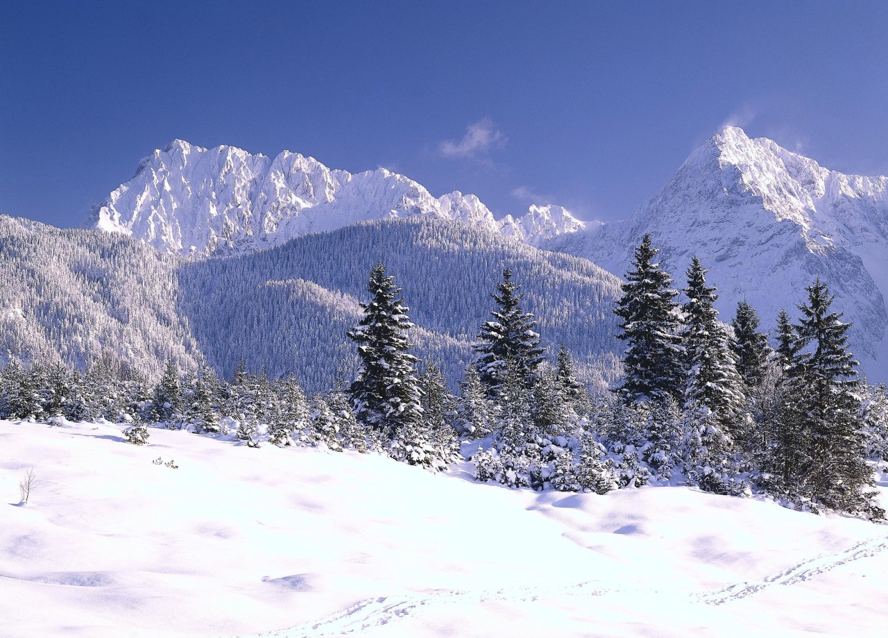
[[(716, 592), (690, 594), (690, 602), (721, 605), (746, 596), (759, 594), (776, 585), (795, 585), (814, 578), (826, 571), (834, 570), (849, 562), (875, 556), (888, 549), (888, 536), (879, 536), (862, 541), (838, 552), (819, 554), (808, 560), (760, 580), (747, 580), (735, 583)], [(378, 596), (353, 604), (345, 610), (305, 623), (280, 629), (266, 634), (268, 638), (320, 638), (325, 635), (353, 634), (371, 627), (386, 625), (389, 622), (409, 616), (414, 610), (439, 604), (477, 604), (488, 601), (532, 602), (553, 595), (599, 596), (603, 594), (640, 594), (645, 590), (606, 587), (599, 580), (591, 580), (570, 586), (546, 588), (540, 586), (512, 587), (489, 591), (472, 592), (460, 590), (439, 590), (430, 594), (399, 594)], [(654, 594), (655, 590), (647, 590)]]

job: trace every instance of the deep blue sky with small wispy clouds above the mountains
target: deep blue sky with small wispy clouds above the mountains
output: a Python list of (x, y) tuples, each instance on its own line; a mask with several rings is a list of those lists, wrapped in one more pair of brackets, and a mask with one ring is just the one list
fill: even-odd
[[(618, 219), (726, 123), (888, 174), (885, 2), (0, 4), (0, 213), (175, 138)], [(471, 133), (471, 134), (470, 134)]]

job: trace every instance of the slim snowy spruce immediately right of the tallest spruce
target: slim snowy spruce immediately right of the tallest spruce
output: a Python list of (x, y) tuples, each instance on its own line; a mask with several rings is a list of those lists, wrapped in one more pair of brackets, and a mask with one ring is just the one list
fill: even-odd
[(740, 375), (724, 327), (718, 323), (716, 288), (706, 285), (706, 273), (694, 257), (687, 269), (687, 303), (683, 340), (686, 352), (687, 404), (708, 408), (723, 427), (736, 427), (744, 403)]

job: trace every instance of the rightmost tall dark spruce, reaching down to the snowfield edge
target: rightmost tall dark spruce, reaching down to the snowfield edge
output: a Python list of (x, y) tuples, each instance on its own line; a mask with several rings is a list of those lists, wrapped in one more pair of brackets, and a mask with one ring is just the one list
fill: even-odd
[(857, 366), (847, 348), (850, 323), (830, 311), (835, 297), (817, 279), (800, 305), (800, 341), (805, 361), (805, 425), (810, 431), (812, 466), (806, 477), (815, 502), (852, 513), (884, 515), (872, 503), (872, 473), (861, 431)]

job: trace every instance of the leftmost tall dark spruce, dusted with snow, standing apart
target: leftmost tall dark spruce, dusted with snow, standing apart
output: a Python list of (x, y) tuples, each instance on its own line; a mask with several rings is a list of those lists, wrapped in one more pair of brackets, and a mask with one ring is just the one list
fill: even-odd
[(358, 345), (361, 368), (352, 384), (354, 413), (361, 423), (374, 427), (391, 441), (395, 430), (422, 416), (421, 390), (416, 379), (416, 356), (408, 331), (413, 327), (409, 308), (399, 298), (394, 277), (385, 266), (370, 270), (368, 303), (361, 303), (364, 316), (348, 332)]

